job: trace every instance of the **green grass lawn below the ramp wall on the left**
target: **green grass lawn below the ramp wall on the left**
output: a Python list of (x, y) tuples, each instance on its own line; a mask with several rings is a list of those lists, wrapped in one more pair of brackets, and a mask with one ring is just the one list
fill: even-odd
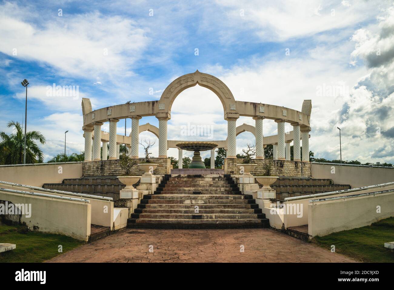
[(70, 251), (84, 242), (69, 236), (25, 231), (23, 226), (0, 225), (0, 243), (16, 244), (17, 248), (0, 253), (0, 262), (43, 262)]

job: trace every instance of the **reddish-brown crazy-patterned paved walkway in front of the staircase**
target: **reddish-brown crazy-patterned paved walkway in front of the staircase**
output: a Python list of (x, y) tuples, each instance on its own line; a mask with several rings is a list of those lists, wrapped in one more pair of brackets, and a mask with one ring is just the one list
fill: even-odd
[(355, 261), (272, 229), (123, 229), (48, 262)]

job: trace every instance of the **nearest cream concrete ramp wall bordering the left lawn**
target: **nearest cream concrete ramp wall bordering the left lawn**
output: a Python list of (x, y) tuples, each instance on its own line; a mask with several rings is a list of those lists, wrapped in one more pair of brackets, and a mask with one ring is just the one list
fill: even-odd
[(21, 222), (31, 230), (71, 236), (87, 241), (91, 227), (89, 200), (0, 188), (0, 200), (31, 205), (31, 216)]

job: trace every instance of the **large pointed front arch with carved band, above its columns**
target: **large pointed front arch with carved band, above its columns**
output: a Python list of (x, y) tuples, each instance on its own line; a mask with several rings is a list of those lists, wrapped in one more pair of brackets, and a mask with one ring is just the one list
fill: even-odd
[[(180, 76), (167, 86), (159, 100), (160, 113), (171, 114), (172, 104), (178, 94), (197, 84), (201, 87), (210, 89), (216, 94), (223, 105), (224, 115), (230, 110), (232, 111), (231, 113), (237, 113), (234, 96), (227, 85), (220, 79), (210, 74), (199, 72), (198, 70), (191, 74)], [(198, 100), (196, 100), (196, 102), (198, 102)]]

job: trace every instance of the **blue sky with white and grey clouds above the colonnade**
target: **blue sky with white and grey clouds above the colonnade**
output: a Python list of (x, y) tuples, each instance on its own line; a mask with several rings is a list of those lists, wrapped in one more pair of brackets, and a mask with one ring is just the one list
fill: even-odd
[[(303, 100), (311, 99), (310, 149), (317, 157), (339, 157), (339, 126), (344, 159), (393, 163), (392, 5), (351, 0), (2, 1), (0, 130), (11, 133), (6, 123), (22, 122), (20, 81), (26, 78), (28, 130), (46, 136), (46, 160), (63, 150), (66, 130), (67, 151), (79, 152), (84, 149), (82, 97), (91, 99), (93, 109), (158, 100), (173, 79), (198, 69), (224, 81), (236, 100), (301, 110)], [(78, 85), (78, 99), (46, 96), (52, 83)], [(321, 87), (332, 90), (320, 95)], [(154, 117), (140, 120), (147, 122), (158, 126)], [(169, 139), (182, 139), (180, 126), (187, 123), (211, 125), (214, 139), (226, 138), (221, 103), (208, 89), (196, 86), (178, 96)], [(254, 125), (254, 120), (241, 117), (237, 125), (242, 123)], [(130, 125), (128, 120), (127, 134)], [(103, 127), (108, 130), (108, 124)], [(118, 133), (124, 130), (119, 122)], [(275, 122), (264, 121), (264, 135), (275, 134)], [(156, 139), (148, 132), (140, 137)], [(251, 133), (237, 137), (237, 153), (247, 142), (254, 142)], [(177, 157), (177, 151), (169, 155)]]

